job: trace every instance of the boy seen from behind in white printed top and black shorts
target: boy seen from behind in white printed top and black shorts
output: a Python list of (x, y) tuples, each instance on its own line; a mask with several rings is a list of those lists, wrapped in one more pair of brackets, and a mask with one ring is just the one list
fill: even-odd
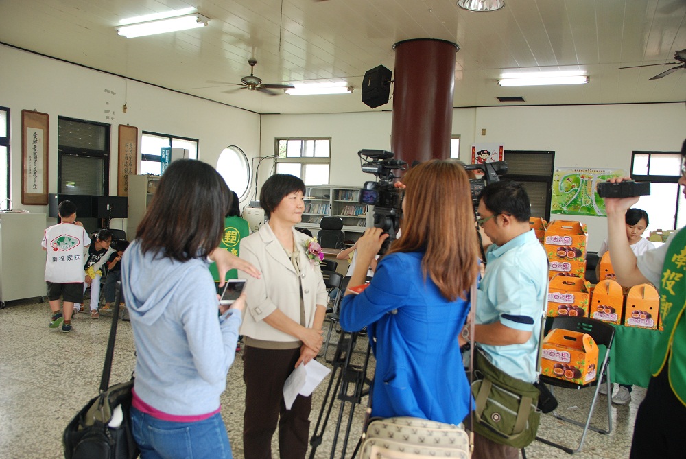
[[(62, 201), (58, 207), (61, 223), (50, 226), (43, 234), (40, 246), (47, 251), (45, 281), (52, 311), (49, 327), (62, 325), (62, 331), (71, 331), (74, 303), (83, 303), (84, 249), (91, 238), (81, 222), (76, 221), (76, 204)], [(64, 315), (60, 312), (60, 296), (64, 302)], [(62, 323), (64, 322), (64, 323)]]

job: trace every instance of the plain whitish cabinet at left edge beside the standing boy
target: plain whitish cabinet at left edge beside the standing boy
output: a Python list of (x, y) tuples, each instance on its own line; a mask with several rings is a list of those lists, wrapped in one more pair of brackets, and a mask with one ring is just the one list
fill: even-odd
[(0, 307), (45, 296), (45, 213), (0, 213)]

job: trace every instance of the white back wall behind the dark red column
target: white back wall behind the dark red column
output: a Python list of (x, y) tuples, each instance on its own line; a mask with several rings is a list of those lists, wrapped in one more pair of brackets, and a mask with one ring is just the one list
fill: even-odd
[[(372, 176), (359, 171), (357, 151), (390, 146), (390, 112), (343, 115), (264, 115), (261, 156), (274, 154), (276, 137), (331, 137), (331, 184), (362, 185)], [(486, 135), (482, 136), (482, 129)], [(471, 144), (503, 142), (508, 150), (554, 150), (555, 167), (605, 167), (629, 172), (633, 150), (678, 151), (686, 137), (683, 103), (599, 106), (456, 108), (453, 134), (460, 134), (460, 158), (469, 162)], [(258, 185), (266, 178), (260, 168)], [(552, 215), (580, 220), (589, 228), (589, 250), (606, 234), (604, 217)]]

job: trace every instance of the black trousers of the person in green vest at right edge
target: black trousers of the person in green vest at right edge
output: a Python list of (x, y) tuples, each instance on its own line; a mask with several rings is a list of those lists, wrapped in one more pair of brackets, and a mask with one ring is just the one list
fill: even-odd
[(667, 365), (650, 378), (646, 398), (636, 414), (630, 459), (683, 458), (686, 406), (674, 395)]

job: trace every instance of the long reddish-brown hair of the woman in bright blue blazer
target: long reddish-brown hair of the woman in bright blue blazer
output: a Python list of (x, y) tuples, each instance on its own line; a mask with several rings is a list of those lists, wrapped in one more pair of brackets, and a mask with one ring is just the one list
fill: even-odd
[(407, 186), (402, 235), (388, 253), (424, 252), (424, 276), (431, 277), (447, 300), (464, 298), (476, 279), (479, 257), (464, 167), (451, 160), (426, 161), (402, 181)]

